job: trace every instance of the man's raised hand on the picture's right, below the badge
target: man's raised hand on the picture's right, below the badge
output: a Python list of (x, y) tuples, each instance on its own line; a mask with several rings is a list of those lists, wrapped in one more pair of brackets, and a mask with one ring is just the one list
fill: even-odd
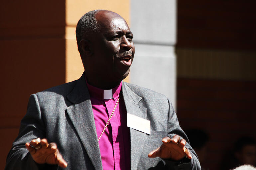
[(179, 161), (185, 156), (188, 159), (192, 158), (190, 151), (185, 147), (186, 140), (180, 140), (179, 135), (175, 135), (172, 139), (169, 137), (164, 137), (162, 139), (163, 144), (156, 150), (151, 151), (148, 154), (149, 158), (160, 157), (163, 159), (172, 159)]

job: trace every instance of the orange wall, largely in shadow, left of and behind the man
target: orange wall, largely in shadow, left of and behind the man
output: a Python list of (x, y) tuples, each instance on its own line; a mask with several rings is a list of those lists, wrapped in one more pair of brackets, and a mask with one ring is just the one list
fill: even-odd
[(75, 26), (94, 9), (129, 23), (129, 1), (3, 1), (0, 6), (0, 169), (26, 113), (30, 94), (75, 80), (83, 72)]

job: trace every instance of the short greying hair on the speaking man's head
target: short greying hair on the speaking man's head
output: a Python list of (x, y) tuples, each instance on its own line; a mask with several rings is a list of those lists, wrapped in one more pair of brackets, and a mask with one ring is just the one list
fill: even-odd
[(100, 24), (97, 23), (95, 18), (96, 14), (102, 10), (93, 10), (84, 14), (76, 25), (76, 42), (78, 46), (78, 51), (81, 54), (82, 49), (80, 47), (80, 41), (89, 33), (97, 33), (100, 31)]

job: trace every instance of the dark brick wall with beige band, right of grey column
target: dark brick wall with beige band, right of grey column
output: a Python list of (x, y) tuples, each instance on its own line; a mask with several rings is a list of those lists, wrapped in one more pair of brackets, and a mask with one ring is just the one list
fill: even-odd
[(178, 1), (177, 115), (183, 129), (209, 134), (205, 169), (222, 169), (239, 137), (256, 138), (255, 7), (255, 1)]

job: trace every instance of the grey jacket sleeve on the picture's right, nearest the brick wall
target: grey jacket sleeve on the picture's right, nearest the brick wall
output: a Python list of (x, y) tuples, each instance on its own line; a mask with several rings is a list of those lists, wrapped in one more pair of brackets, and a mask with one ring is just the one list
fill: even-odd
[(187, 144), (185, 147), (189, 149), (192, 159), (189, 160), (187, 158), (182, 159), (181, 161), (172, 161), (170, 159), (165, 159), (165, 163), (170, 166), (170, 169), (175, 170), (201, 170), (200, 162), (198, 160), (198, 157), (195, 153), (195, 151), (192, 149), (192, 147), (189, 144), (189, 140), (186, 136), (186, 134), (183, 132), (179, 125), (179, 121), (177, 118), (177, 115), (173, 109), (173, 106), (171, 104), (171, 101), (168, 99), (169, 102), (169, 115), (168, 115), (168, 137), (172, 138), (174, 135), (179, 135), (183, 139), (187, 141)]

